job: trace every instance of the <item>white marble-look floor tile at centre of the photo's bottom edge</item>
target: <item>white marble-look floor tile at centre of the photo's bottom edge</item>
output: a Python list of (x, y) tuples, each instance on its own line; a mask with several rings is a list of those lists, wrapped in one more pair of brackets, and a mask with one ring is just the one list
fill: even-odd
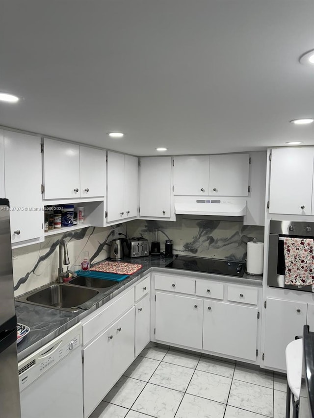
[(156, 418), (174, 418), (183, 398), (182, 392), (147, 383), (132, 410)]

